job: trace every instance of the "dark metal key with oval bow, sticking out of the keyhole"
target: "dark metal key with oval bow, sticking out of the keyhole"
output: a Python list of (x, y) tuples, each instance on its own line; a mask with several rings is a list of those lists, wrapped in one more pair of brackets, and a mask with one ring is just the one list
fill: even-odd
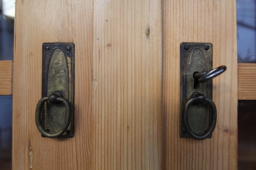
[(196, 72), (195, 74), (193, 74), (193, 77), (198, 78), (199, 82), (207, 82), (209, 79), (217, 77), (218, 75), (226, 71), (226, 69), (227, 67), (225, 65), (221, 65), (217, 68), (214, 68), (212, 71), (203, 71), (200, 73)]

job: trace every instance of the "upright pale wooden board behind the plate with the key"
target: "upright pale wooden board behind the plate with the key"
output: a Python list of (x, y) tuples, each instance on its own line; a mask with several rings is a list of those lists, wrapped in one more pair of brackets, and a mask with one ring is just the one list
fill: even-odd
[[(211, 42), (217, 125), (211, 139), (179, 137), (180, 43)], [(237, 53), (235, 0), (163, 0), (163, 111), (166, 170), (236, 170)]]

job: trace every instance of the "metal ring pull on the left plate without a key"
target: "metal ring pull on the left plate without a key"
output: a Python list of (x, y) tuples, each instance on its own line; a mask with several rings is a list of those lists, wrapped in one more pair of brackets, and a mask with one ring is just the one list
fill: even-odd
[[(48, 100), (52, 104), (61, 102), (65, 105), (65, 108), (66, 108), (65, 122), (64, 122), (61, 130), (54, 132), (54, 133), (48, 132), (47, 130), (45, 130), (41, 123), (42, 107), (44, 105), (44, 102), (47, 102)], [(57, 138), (57, 137), (61, 136), (63, 133), (65, 133), (65, 131), (67, 130), (67, 128), (70, 124), (70, 115), (71, 115), (70, 103), (64, 97), (61, 97), (59, 94), (54, 93), (54, 94), (51, 94), (49, 97), (44, 97), (39, 100), (38, 105), (36, 107), (36, 112), (35, 112), (35, 122), (38, 127), (38, 130), (42, 133), (42, 135), (44, 135), (45, 137), (48, 137), (48, 138)]]

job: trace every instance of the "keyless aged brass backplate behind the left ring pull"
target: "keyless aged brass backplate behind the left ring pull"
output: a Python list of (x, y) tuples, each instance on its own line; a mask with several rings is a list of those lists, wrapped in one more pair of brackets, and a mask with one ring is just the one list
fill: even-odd
[[(71, 106), (69, 127), (60, 137), (74, 136), (74, 66), (75, 44), (43, 44), (42, 97), (49, 97), (50, 94), (57, 93), (66, 98)], [(42, 125), (45, 130), (51, 133), (57, 132), (62, 128), (66, 115), (64, 104), (52, 104), (47, 101), (44, 104), (42, 113)]]

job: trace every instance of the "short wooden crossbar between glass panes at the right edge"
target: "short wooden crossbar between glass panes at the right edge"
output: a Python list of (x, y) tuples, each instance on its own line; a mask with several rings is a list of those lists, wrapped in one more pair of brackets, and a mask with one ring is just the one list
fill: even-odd
[(238, 64), (238, 99), (256, 99), (256, 64)]

